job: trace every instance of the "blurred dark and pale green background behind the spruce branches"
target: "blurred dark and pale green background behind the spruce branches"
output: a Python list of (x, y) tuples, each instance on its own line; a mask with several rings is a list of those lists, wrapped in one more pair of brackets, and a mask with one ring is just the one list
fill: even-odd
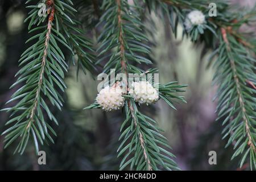
[[(30, 45), (25, 44), (27, 23), (23, 23), (28, 10), (22, 0), (0, 0), (0, 109), (6, 107), (16, 88), (9, 90), (18, 71), (18, 60)], [(240, 6), (252, 7), (255, 0), (232, 1)], [(89, 3), (89, 6), (90, 5)], [(81, 10), (82, 11), (82, 10)], [(147, 32), (150, 38), (154, 67), (159, 68), (160, 82), (178, 80), (188, 84), (184, 93), (187, 104), (175, 104), (177, 111), (159, 101), (154, 106), (142, 107), (144, 113), (158, 121), (165, 130), (178, 166), (183, 170), (236, 170), (237, 161), (230, 158), (232, 147), (224, 146), (221, 123), (215, 122), (216, 103), (212, 102), (216, 87), (211, 85), (213, 70), (206, 68), (210, 51), (204, 45), (192, 44), (189, 39), (174, 38), (167, 20), (160, 20), (154, 13), (146, 14), (146, 27), (155, 25), (154, 32)], [(90, 18), (88, 18), (90, 17)], [(81, 14), (81, 20), (97, 23), (97, 14)], [(88, 35), (96, 42), (99, 30), (88, 28)], [(181, 30), (181, 29), (180, 29)], [(181, 32), (181, 31), (179, 31)], [(70, 64), (65, 78), (67, 92), (62, 111), (54, 111), (59, 126), (55, 144), (45, 145), (47, 165), (39, 165), (33, 145), (27, 147), (23, 155), (13, 155), (15, 144), (3, 150), (3, 136), (0, 136), (0, 170), (117, 170), (119, 160), (119, 125), (122, 113), (104, 113), (101, 110), (82, 110), (94, 102), (98, 82), (89, 73), (80, 72), (76, 78), (76, 68)], [(0, 133), (6, 129), (9, 114), (0, 112)], [(217, 165), (209, 165), (209, 151), (217, 152)], [(247, 169), (245, 164), (242, 169)], [(240, 170), (240, 169), (239, 169)]]

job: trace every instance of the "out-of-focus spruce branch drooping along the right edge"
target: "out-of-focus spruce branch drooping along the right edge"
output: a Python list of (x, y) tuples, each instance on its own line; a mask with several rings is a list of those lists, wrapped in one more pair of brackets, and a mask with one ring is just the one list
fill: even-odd
[[(209, 17), (208, 1), (162, 0), (168, 5), (171, 26), (176, 30), (177, 23), (185, 24), (188, 11), (199, 10), (205, 14), (205, 29), (195, 25), (191, 30), (184, 27), (185, 34), (193, 41), (205, 43), (209, 49), (216, 49), (210, 56), (218, 56), (214, 67), (214, 83), (218, 85), (218, 118), (224, 118), (224, 138), (230, 135), (228, 144), (235, 143), (232, 159), (242, 154), (240, 167), (249, 155), (250, 168), (256, 169), (255, 155), (255, 59), (250, 54), (255, 52), (254, 39), (240, 32), (239, 28), (255, 17), (255, 9), (234, 14), (229, 10), (229, 3), (216, 1), (217, 16)], [(175, 7), (175, 8), (174, 8)], [(203, 27), (204, 28), (204, 27)], [(252, 34), (249, 34), (251, 36)], [(248, 39), (249, 38), (249, 39)], [(229, 122), (229, 123), (228, 123)], [(245, 148), (247, 147), (246, 151)]]

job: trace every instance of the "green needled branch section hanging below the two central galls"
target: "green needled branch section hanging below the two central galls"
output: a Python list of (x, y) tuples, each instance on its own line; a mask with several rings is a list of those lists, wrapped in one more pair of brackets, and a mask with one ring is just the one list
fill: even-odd
[(118, 156), (124, 155), (120, 170), (128, 165), (131, 170), (179, 170), (172, 159), (175, 156), (164, 148), (170, 147), (154, 119), (142, 114), (133, 99), (126, 101), (125, 114), (117, 150)]

